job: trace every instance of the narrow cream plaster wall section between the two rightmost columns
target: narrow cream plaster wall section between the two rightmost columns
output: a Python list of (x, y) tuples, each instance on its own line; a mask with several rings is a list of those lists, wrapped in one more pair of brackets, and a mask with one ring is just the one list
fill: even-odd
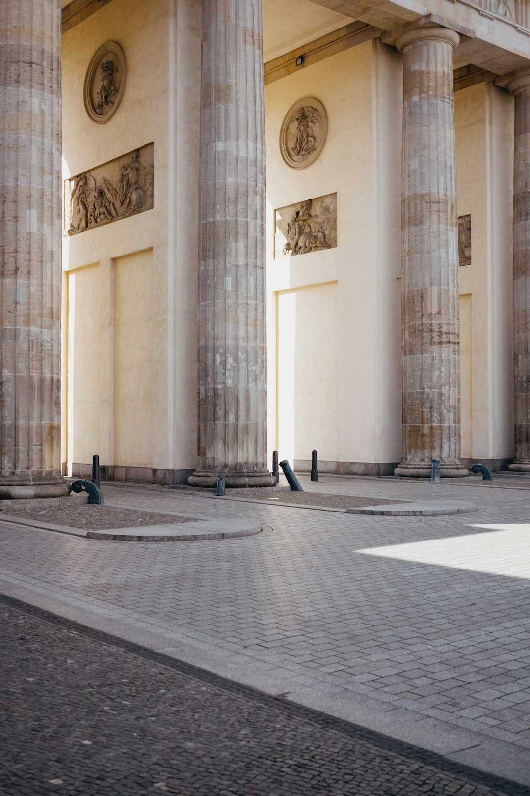
[(462, 457), (506, 459), (513, 456), (513, 98), (486, 83), (456, 92), (455, 127), (458, 215), (471, 214), (472, 260), (459, 268)]

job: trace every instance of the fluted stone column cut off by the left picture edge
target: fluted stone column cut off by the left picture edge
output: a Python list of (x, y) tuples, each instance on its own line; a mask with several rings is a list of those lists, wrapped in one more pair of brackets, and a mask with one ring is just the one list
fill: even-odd
[(0, 0), (0, 497), (60, 476), (60, 0)]

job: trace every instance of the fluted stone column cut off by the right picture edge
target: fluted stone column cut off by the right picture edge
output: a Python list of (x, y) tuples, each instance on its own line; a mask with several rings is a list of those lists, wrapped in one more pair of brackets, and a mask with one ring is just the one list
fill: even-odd
[(508, 84), (515, 95), (513, 150), (513, 369), (515, 459), (530, 472), (530, 69)]

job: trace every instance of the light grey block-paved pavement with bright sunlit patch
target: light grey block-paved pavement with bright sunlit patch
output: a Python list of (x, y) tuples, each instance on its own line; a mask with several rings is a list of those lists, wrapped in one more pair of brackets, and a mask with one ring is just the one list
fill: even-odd
[(300, 480), (478, 512), (365, 517), (104, 486), (106, 505), (272, 530), (124, 549), (0, 521), (0, 591), (530, 786), (528, 490)]

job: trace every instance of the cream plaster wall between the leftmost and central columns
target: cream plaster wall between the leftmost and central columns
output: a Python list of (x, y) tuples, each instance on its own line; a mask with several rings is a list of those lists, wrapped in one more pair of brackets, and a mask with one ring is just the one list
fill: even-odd
[[(112, 119), (95, 124), (84, 109), (83, 81), (106, 40), (118, 41), (126, 53), (126, 91)], [(75, 313), (87, 302), (99, 305), (100, 316), (98, 356), (84, 357), (84, 377), (99, 383), (96, 417), (83, 412), (85, 399), (68, 373), (72, 357), (64, 324), (64, 417), (75, 419), (73, 437), (69, 424), (63, 425), (64, 455), (70, 466), (97, 452), (102, 464), (191, 469), (200, 0), (115, 0), (68, 31), (62, 47), (64, 178), (154, 144), (153, 210), (64, 238), (64, 270), (76, 274)], [(87, 279), (79, 279), (89, 263), (99, 263), (90, 292)], [(65, 314), (67, 305), (68, 293)], [(72, 342), (70, 349), (76, 346)]]

